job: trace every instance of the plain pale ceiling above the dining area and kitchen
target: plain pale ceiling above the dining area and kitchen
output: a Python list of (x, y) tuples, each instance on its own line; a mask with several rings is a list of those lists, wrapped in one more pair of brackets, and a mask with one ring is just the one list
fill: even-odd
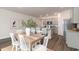
[(67, 9), (71, 9), (70, 7), (1, 7), (1, 8), (34, 17), (39, 17), (40, 15), (44, 16), (46, 14), (52, 15), (55, 12), (61, 12)]

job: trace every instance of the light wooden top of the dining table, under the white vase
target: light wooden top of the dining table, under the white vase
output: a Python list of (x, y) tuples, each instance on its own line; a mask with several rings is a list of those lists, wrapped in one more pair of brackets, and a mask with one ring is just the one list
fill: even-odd
[(30, 36), (27, 36), (26, 33), (16, 33), (16, 34), (17, 34), (16, 36), (18, 36), (19, 34), (20, 34), (20, 35), (23, 35), (25, 41), (26, 41), (27, 43), (30, 43), (30, 44), (33, 44), (33, 43), (35, 43), (36, 41), (39, 41), (39, 40), (41, 40), (41, 39), (44, 38), (44, 35), (42, 35), (42, 34), (32, 34), (32, 35), (30, 35)]

